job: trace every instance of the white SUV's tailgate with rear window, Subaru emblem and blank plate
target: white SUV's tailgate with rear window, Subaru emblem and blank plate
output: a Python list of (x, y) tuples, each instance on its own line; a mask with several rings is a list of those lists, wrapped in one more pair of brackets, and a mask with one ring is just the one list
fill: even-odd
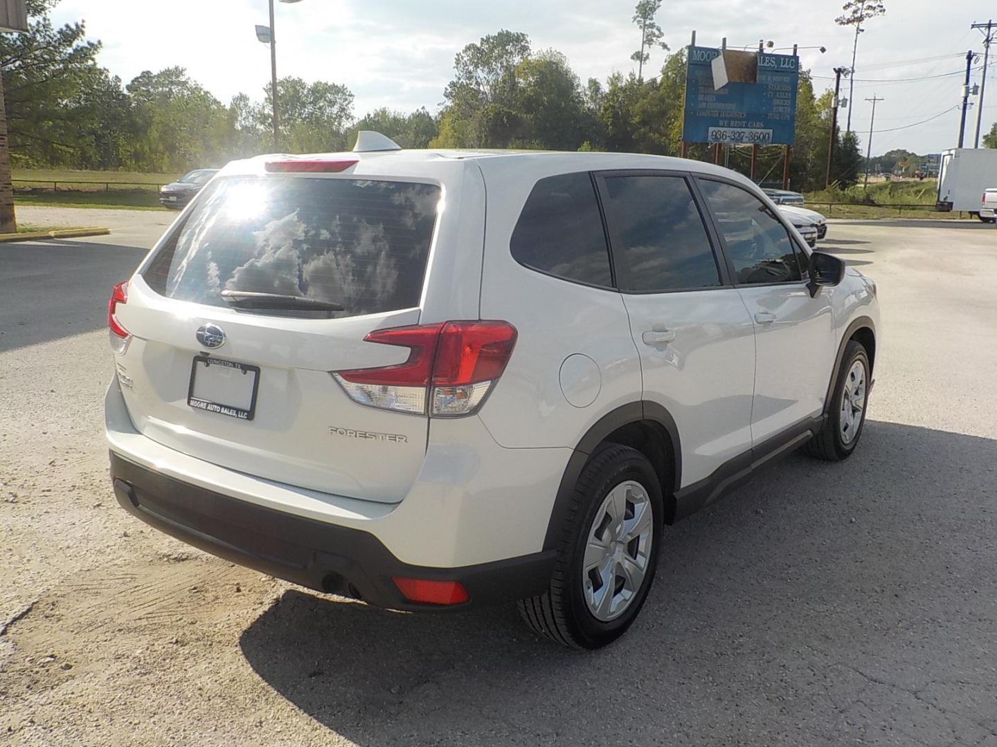
[[(420, 322), (434, 242), (452, 241), (456, 230), (437, 225), (441, 196), (430, 179), (215, 179), (118, 308), (133, 335), (118, 363), (132, 383), (123, 393), (137, 428), (255, 476), (401, 500), (426, 449), (418, 392), (408, 404), (400, 394), (400, 408), (364, 406), (332, 372), (409, 359), (409, 348), (364, 338)], [(464, 209), (473, 218), (484, 204)], [(247, 308), (245, 296), (225, 291), (342, 311)]]

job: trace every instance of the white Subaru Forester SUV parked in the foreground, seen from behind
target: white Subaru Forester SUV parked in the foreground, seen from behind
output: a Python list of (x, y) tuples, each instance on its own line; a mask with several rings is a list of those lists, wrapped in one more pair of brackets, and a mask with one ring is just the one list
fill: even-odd
[(365, 132), (233, 162), (114, 289), (114, 490), (320, 592), (517, 601), (595, 648), (665, 525), (797, 447), (852, 452), (875, 295), (697, 161)]

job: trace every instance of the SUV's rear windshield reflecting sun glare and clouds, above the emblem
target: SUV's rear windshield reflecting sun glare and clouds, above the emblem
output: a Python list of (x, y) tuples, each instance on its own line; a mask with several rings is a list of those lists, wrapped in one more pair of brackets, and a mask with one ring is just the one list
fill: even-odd
[(336, 317), (416, 307), (439, 201), (438, 186), (414, 182), (218, 179), (143, 277), (211, 306), (231, 290), (336, 303)]

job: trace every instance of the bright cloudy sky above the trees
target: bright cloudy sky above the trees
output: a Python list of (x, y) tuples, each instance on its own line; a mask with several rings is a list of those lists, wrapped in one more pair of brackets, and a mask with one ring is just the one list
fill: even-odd
[[(832, 69), (851, 62), (853, 31), (833, 22), (841, 2), (666, 0), (657, 21), (673, 50), (688, 45), (693, 30), (700, 46), (719, 47), (727, 37), (730, 47), (755, 47), (761, 39), (775, 42), (777, 49), (826, 47), (825, 54), (801, 51), (803, 67), (812, 70), (822, 91), (832, 86)], [(983, 53), (983, 35), (970, 25), (991, 16), (997, 20), (997, 5), (992, 0), (885, 3), (887, 14), (868, 21), (859, 37), (851, 126), (862, 149), (871, 114), (864, 99), (872, 96), (884, 100), (876, 106), (873, 154), (897, 147), (917, 153), (955, 147), (966, 51)], [(534, 50), (564, 53), (582, 81), (630, 72), (630, 54), (640, 44), (631, 21), (634, 5), (635, 0), (278, 2), (277, 70), (280, 76), (345, 84), (356, 96), (358, 118), (379, 107), (435, 112), (455, 54), (499, 29), (526, 33)], [(253, 26), (266, 25), (267, 14), (266, 0), (62, 0), (53, 20), (84, 20), (88, 38), (103, 42), (100, 64), (126, 83), (145, 70), (179, 65), (227, 103), (239, 92), (263, 97), (269, 52), (256, 41)], [(997, 45), (993, 52), (984, 132), (997, 121)], [(664, 54), (652, 54), (651, 69), (660, 68)], [(975, 66), (982, 66), (982, 57)], [(974, 71), (974, 82), (981, 72)], [(846, 114), (840, 114), (842, 126)], [(974, 107), (967, 118), (969, 146), (975, 124)]]

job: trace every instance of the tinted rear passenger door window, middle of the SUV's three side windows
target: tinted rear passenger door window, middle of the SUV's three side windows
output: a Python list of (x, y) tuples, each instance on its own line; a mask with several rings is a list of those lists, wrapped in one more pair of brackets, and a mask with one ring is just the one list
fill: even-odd
[(719, 286), (703, 218), (681, 176), (607, 176), (603, 204), (624, 291)]

